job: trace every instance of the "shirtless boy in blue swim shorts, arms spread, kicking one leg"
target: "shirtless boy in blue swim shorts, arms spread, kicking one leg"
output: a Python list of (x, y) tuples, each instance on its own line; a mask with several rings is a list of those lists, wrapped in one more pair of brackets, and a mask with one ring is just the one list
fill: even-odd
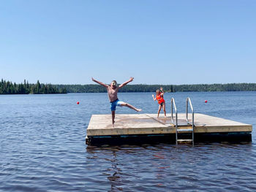
[(112, 124), (114, 127), (114, 123), (115, 123), (115, 113), (116, 113), (116, 106), (125, 106), (125, 107), (129, 107), (132, 110), (135, 110), (137, 112), (140, 112), (140, 109), (137, 109), (136, 107), (133, 107), (131, 104), (127, 104), (123, 101), (119, 101), (117, 98), (117, 92), (120, 88), (124, 87), (124, 85), (127, 85), (128, 82), (132, 82), (134, 78), (130, 77), (129, 80), (127, 82), (122, 83), (121, 85), (119, 85), (118, 87), (116, 86), (116, 80), (113, 80), (110, 85), (106, 85), (103, 82), (99, 82), (97, 80), (94, 80), (93, 77), (91, 77), (91, 80), (94, 82), (97, 82), (99, 85), (104, 86), (105, 88), (107, 88), (108, 91), (108, 99), (110, 100), (110, 110), (112, 113)]

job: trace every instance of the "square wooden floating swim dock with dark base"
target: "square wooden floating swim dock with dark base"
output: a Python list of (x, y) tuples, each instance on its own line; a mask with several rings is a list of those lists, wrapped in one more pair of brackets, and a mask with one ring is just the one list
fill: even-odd
[[(193, 142), (218, 141), (252, 141), (252, 125), (233, 120), (217, 118), (195, 113), (193, 126)], [(115, 127), (112, 126), (111, 115), (92, 115), (87, 128), (86, 144), (138, 144), (151, 142), (177, 142), (179, 137), (186, 140), (191, 137), (191, 123), (186, 113), (179, 113), (172, 120), (157, 114), (123, 114), (116, 115)], [(192, 121), (192, 114), (188, 114)], [(176, 123), (177, 122), (177, 123)], [(194, 137), (195, 136), (195, 137)]]

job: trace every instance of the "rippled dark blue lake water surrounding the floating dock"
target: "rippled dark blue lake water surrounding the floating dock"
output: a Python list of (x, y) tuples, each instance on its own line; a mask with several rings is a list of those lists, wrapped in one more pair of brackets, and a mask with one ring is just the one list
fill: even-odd
[[(157, 113), (151, 94), (118, 97)], [(256, 126), (256, 92), (165, 93), (167, 112), (171, 97), (185, 112), (187, 96), (195, 112)], [(237, 144), (87, 146), (91, 115), (106, 113), (107, 93), (1, 95), (0, 191), (256, 190), (254, 131), (252, 142)]]

